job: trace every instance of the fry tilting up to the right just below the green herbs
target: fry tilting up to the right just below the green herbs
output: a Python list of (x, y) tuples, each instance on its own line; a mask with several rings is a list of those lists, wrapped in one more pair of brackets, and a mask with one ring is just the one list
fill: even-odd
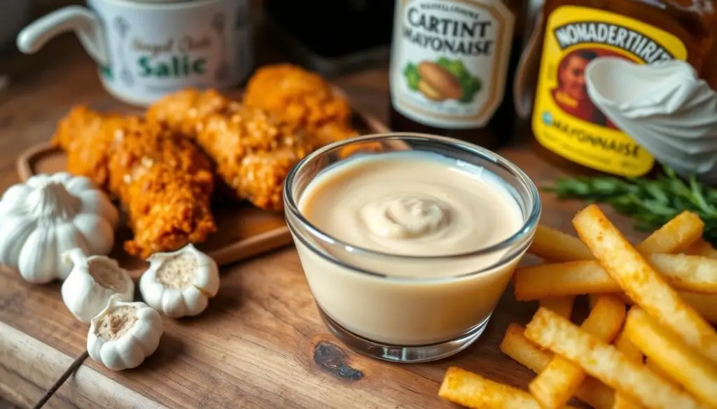
[[(589, 207), (596, 207), (591, 205)], [(655, 230), (645, 241), (635, 246), (642, 254), (647, 253), (680, 253), (702, 237), (705, 223), (700, 216), (683, 211), (664, 226)], [(578, 234), (579, 235), (579, 234)], [(588, 248), (589, 248), (588, 244)]]

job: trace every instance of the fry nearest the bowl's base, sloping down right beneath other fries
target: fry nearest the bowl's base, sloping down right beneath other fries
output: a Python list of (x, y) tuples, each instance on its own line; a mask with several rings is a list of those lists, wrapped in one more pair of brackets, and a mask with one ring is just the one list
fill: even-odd
[[(528, 341), (523, 335), (525, 330), (521, 325), (509, 324), (503, 342), (500, 342), (500, 350), (533, 372), (540, 373), (548, 367), (553, 354), (541, 350)], [(614, 403), (612, 389), (607, 388), (594, 377), (585, 377), (585, 380), (575, 390), (575, 397), (595, 409), (612, 409)]]

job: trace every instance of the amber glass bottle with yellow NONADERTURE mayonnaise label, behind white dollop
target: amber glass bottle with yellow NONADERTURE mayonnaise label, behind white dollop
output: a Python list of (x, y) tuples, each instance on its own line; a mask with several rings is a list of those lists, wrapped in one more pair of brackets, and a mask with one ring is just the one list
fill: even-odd
[(589, 99), (584, 69), (603, 56), (637, 64), (680, 59), (717, 89), (716, 6), (713, 0), (546, 0), (534, 47), (518, 72), (518, 82), (536, 79), (526, 81), (535, 84), (536, 152), (584, 174), (654, 173), (649, 150)]

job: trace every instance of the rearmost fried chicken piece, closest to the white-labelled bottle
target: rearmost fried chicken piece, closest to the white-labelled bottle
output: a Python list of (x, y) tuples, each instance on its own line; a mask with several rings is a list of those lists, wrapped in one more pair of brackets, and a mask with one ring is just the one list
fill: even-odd
[(292, 64), (257, 69), (243, 102), (303, 127), (320, 145), (359, 135), (351, 128), (351, 106), (346, 98), (320, 75)]

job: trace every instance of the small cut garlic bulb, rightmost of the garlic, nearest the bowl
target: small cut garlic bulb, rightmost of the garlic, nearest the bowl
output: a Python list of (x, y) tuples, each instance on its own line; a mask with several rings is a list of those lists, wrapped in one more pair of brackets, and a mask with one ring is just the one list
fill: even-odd
[(191, 244), (149, 258), (139, 280), (144, 301), (168, 317), (196, 315), (219, 292), (219, 268), (211, 257)]

